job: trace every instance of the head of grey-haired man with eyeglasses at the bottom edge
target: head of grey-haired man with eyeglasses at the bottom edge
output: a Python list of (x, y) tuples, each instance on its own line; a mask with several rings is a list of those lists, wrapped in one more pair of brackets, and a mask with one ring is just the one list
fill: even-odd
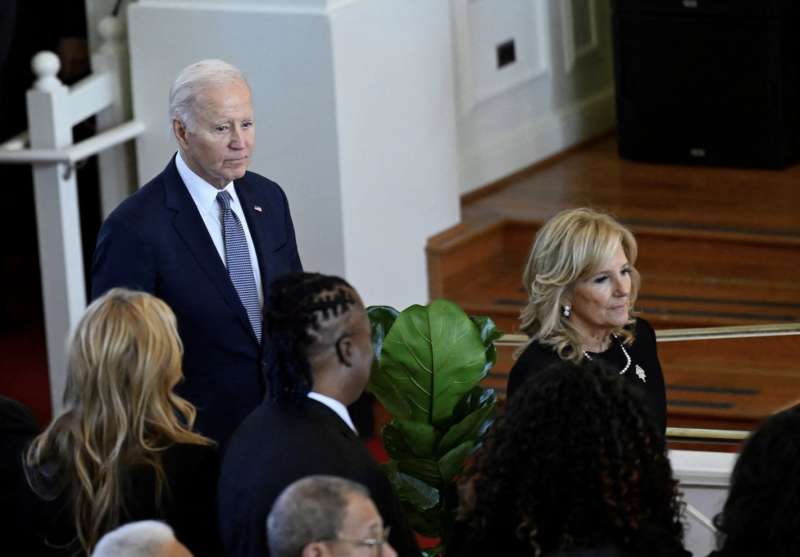
[(397, 557), (389, 530), (367, 488), (336, 476), (292, 483), (267, 518), (271, 557)]

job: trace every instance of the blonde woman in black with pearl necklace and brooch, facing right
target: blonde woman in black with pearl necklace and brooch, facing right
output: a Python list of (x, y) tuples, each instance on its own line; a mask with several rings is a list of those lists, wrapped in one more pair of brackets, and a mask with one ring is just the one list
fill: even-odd
[(604, 361), (644, 392), (649, 414), (666, 430), (655, 332), (633, 315), (640, 285), (637, 255), (631, 231), (610, 215), (569, 209), (544, 224), (522, 277), (528, 304), (520, 329), (530, 340), (509, 374), (509, 399), (550, 364)]

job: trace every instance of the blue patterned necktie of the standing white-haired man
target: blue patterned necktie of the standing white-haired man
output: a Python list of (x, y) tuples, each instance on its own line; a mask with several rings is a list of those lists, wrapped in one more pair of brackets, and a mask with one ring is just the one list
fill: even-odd
[(222, 209), (222, 238), (225, 242), (225, 265), (231, 282), (239, 294), (253, 332), (261, 342), (261, 304), (258, 302), (256, 279), (247, 249), (247, 238), (239, 217), (231, 210), (231, 194), (221, 191), (217, 194), (217, 203)]

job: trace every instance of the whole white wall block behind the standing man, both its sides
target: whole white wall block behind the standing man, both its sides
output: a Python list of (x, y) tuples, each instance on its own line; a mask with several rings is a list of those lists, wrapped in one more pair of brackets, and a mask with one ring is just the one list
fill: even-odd
[(286, 190), (306, 269), (345, 275), (368, 304), (427, 302), (425, 240), (459, 219), (446, 4), (143, 0), (129, 26), (143, 180), (175, 149), (174, 77), (225, 59), (251, 83), (251, 169)]

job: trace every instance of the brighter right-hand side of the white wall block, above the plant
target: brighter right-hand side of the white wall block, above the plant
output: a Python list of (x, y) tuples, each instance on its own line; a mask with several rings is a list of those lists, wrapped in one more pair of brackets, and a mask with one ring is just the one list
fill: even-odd
[(368, 303), (426, 303), (428, 237), (460, 220), (446, 2), (331, 17), (347, 275)]

